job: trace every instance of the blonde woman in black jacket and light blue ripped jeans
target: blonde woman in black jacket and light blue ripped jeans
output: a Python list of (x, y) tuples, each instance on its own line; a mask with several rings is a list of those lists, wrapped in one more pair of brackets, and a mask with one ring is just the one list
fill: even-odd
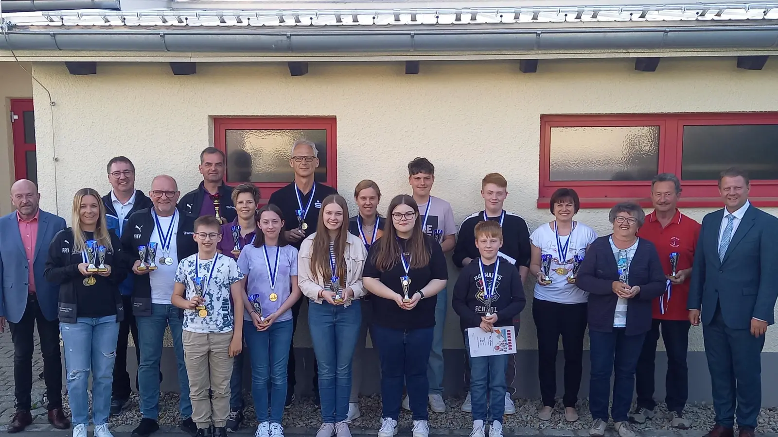
[[(127, 277), (121, 243), (108, 230), (100, 194), (91, 188), (75, 193), (72, 227), (61, 230), (49, 246), (45, 277), (60, 285), (59, 320), (73, 437), (86, 437), (89, 425), (89, 372), (96, 437), (108, 431), (110, 393), (119, 323), (124, 318), (119, 284)], [(84, 370), (86, 369), (86, 370)]]

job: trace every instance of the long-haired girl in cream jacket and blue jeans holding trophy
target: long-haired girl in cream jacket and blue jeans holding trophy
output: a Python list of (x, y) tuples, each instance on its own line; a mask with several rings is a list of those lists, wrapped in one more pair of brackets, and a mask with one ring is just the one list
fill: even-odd
[(300, 289), (309, 299), (308, 324), (319, 367), (322, 425), (317, 437), (350, 437), (347, 414), (351, 362), (359, 337), (364, 294), (362, 240), (349, 233), (345, 199), (331, 194), (321, 202), (317, 232), (300, 246)]

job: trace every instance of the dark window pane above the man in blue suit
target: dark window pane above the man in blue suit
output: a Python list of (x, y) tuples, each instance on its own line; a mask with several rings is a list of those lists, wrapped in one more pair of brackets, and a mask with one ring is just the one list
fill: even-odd
[(731, 166), (778, 179), (778, 124), (684, 126), (681, 178), (718, 180)]

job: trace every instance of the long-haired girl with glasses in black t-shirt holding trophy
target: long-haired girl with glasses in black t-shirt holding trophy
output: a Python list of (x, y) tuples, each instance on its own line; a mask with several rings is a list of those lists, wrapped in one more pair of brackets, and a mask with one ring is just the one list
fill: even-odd
[(440, 244), (424, 235), (419, 206), (401, 194), (389, 204), (384, 236), (370, 246), (363, 285), (375, 298), (371, 336), (381, 362), (384, 404), (379, 437), (397, 432), (403, 379), (413, 412), (413, 435), (429, 433), (427, 362), (433, 344), (437, 293), (448, 270)]

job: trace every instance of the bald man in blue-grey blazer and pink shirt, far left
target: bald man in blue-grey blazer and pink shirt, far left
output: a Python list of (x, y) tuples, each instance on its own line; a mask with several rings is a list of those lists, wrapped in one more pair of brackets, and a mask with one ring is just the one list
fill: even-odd
[(0, 218), (0, 333), (5, 321), (13, 341), (13, 379), (16, 413), (8, 432), (23, 431), (33, 422), (33, 330), (38, 325), (40, 352), (48, 399), (48, 421), (54, 428), (70, 428), (62, 411), (62, 364), (59, 350), (57, 302), (59, 287), (44, 278), (49, 243), (65, 229), (65, 220), (40, 211), (40, 194), (30, 180), (17, 180), (11, 187), (16, 212)]

